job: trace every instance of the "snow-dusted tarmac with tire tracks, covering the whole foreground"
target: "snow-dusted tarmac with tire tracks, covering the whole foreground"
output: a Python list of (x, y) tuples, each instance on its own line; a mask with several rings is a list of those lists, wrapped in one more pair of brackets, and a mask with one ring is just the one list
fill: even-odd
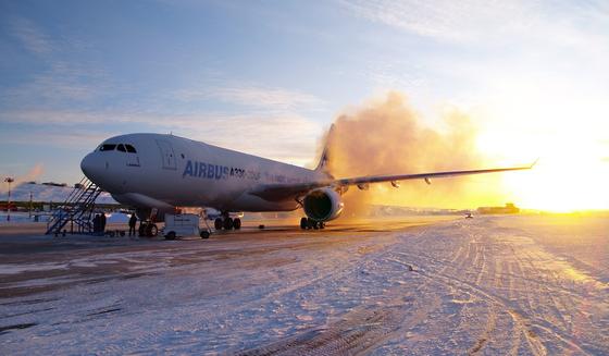
[(289, 234), (2, 262), (0, 354), (609, 354), (607, 219)]

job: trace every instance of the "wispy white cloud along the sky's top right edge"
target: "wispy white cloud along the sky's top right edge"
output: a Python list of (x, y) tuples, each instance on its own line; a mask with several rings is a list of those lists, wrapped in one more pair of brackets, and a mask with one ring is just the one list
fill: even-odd
[[(593, 27), (606, 23), (602, 2), (345, 0), (355, 15), (444, 41), (469, 42), (511, 36), (560, 45), (604, 40)], [(591, 38), (591, 36), (593, 38)]]

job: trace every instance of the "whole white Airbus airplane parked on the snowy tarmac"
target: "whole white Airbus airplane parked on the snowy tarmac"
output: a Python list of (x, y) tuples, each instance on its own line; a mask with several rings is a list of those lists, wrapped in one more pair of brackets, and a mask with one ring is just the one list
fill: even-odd
[[(135, 208), (145, 221), (145, 233), (157, 235), (156, 222), (177, 207), (203, 207), (220, 211), (216, 230), (240, 229), (243, 211), (293, 211), (302, 208), (303, 230), (323, 229), (343, 211), (341, 195), (350, 186), (424, 180), (467, 174), (527, 170), (523, 167), (369, 175), (335, 179), (327, 169), (328, 146), (315, 169), (257, 157), (172, 134), (135, 133), (103, 140), (80, 162), (83, 173), (112, 197)], [(233, 218), (234, 217), (234, 218)], [(211, 230), (201, 231), (207, 238)]]

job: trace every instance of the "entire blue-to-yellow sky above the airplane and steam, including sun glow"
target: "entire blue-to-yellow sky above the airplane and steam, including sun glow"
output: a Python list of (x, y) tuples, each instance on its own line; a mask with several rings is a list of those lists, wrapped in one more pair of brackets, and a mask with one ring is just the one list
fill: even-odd
[(539, 158), (504, 182), (524, 206), (609, 208), (607, 1), (3, 0), (0, 53), (3, 176), (77, 182), (132, 132), (306, 165), (397, 90), (431, 127), (467, 112), (497, 164)]

